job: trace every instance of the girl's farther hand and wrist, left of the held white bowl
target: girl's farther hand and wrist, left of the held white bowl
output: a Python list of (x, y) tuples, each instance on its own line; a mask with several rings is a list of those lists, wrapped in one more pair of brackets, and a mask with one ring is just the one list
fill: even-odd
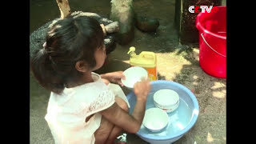
[(106, 78), (107, 80), (109, 80), (112, 83), (117, 83), (120, 86), (123, 86), (123, 84), (121, 82), (121, 78), (126, 79), (126, 76), (123, 75), (122, 73), (123, 73), (123, 71), (115, 71), (112, 73), (101, 74), (101, 77)]

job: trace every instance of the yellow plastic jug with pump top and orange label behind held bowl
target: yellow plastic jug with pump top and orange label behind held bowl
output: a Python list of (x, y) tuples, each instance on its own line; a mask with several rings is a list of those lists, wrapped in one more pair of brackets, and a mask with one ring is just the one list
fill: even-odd
[(130, 66), (141, 66), (147, 70), (150, 81), (158, 80), (157, 56), (151, 51), (135, 53), (135, 47), (131, 46), (127, 54), (130, 54)]

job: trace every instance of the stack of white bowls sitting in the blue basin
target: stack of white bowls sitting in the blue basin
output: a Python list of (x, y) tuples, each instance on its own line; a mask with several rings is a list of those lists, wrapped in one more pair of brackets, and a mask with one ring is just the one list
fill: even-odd
[(162, 89), (154, 93), (154, 106), (165, 110), (167, 113), (178, 108), (179, 96), (174, 90)]

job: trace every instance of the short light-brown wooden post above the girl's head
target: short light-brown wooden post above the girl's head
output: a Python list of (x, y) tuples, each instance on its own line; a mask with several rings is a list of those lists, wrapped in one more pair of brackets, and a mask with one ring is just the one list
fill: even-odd
[(61, 18), (64, 19), (71, 14), (68, 0), (56, 0), (58, 8), (61, 11)]

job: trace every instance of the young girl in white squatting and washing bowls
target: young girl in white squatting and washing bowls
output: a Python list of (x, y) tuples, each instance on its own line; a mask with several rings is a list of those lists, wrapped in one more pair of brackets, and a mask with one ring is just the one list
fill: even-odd
[(150, 82), (134, 85), (137, 103), (129, 114), (126, 102), (106, 85), (122, 85), (122, 71), (93, 72), (103, 65), (105, 49), (98, 21), (81, 16), (50, 26), (45, 45), (32, 57), (34, 77), (51, 91), (45, 118), (55, 143), (113, 143), (122, 130), (140, 129)]

